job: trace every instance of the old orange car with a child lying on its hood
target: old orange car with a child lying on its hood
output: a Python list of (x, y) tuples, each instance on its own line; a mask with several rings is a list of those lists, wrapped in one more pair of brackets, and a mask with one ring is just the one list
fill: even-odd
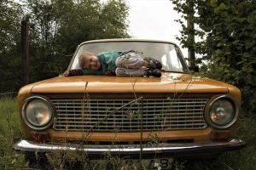
[(131, 49), (158, 59), (161, 77), (54, 77), (20, 88), (25, 139), (15, 150), (81, 150), (88, 156), (192, 156), (241, 149), (233, 138), (240, 114), (238, 88), (193, 76), (175, 43), (137, 39), (83, 42), (83, 50)]

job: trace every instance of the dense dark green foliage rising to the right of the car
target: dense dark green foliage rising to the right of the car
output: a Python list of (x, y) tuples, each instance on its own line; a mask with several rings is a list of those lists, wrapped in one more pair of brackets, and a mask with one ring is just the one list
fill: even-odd
[[(195, 11), (195, 28), (187, 27), (183, 20), (181, 37), (183, 47), (194, 48), (207, 65), (201, 72), (241, 88), (243, 108), (256, 112), (256, 1), (240, 0), (174, 0), (175, 10), (187, 19)], [(191, 5), (192, 4), (192, 5)], [(195, 38), (189, 34), (195, 31)], [(197, 61), (200, 63), (201, 59)]]

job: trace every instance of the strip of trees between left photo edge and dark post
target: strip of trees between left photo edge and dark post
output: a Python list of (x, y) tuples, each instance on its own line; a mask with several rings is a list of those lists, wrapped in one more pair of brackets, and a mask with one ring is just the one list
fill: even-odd
[(13, 1), (0, 1), (0, 94), (5, 88), (15, 91), (21, 82), (20, 21), (24, 16), (21, 8)]

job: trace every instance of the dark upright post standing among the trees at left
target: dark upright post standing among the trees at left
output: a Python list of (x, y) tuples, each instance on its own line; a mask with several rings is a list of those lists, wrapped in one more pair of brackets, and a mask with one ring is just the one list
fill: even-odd
[(28, 83), (28, 19), (21, 21), (22, 82)]

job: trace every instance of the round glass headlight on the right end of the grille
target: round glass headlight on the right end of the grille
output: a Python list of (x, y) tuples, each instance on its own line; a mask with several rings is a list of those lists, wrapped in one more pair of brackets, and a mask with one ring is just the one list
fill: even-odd
[(206, 111), (206, 120), (216, 128), (227, 128), (236, 122), (239, 107), (235, 101), (227, 96), (213, 99)]

